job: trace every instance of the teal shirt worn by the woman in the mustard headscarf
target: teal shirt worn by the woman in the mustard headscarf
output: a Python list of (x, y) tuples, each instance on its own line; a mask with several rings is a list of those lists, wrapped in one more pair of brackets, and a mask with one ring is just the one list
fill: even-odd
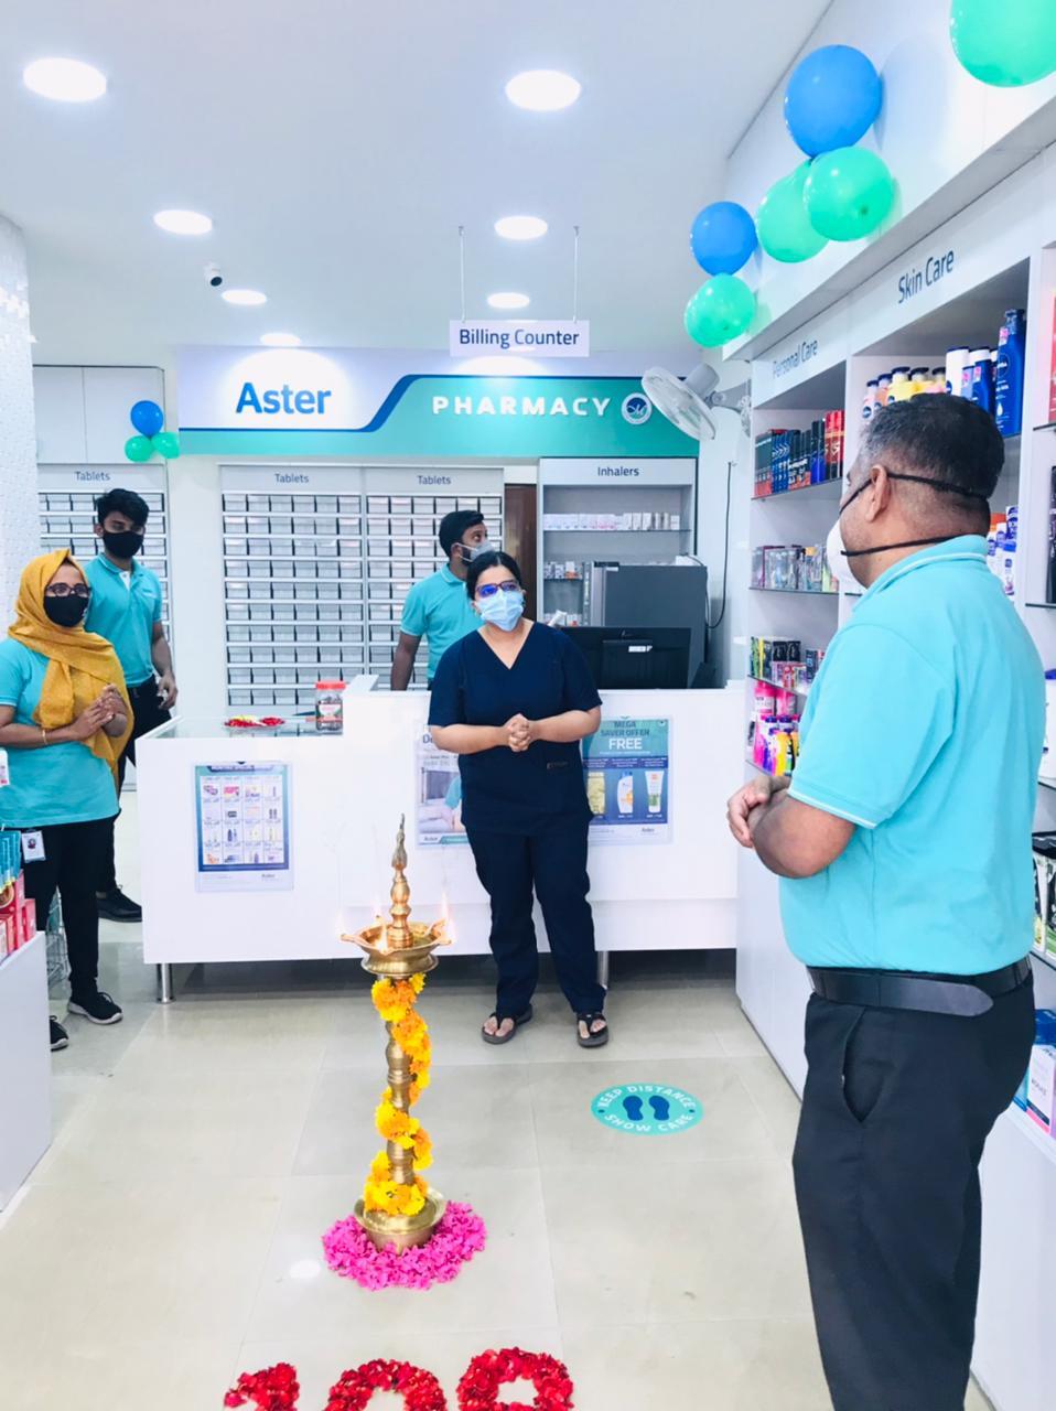
[[(16, 725), (34, 725), (49, 662), (8, 636), (0, 642), (0, 706), (14, 706)], [(47, 828), (56, 823), (113, 818), (117, 790), (110, 766), (71, 739), (42, 749), (8, 749), (11, 783), (0, 789), (4, 828)], [(41, 923), (42, 924), (42, 923)]]

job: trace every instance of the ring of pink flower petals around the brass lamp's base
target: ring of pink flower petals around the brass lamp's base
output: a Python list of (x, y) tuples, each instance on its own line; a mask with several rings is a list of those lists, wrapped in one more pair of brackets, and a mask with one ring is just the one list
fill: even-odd
[(484, 1222), (472, 1205), (452, 1201), (428, 1245), (397, 1253), (377, 1250), (354, 1215), (323, 1235), (326, 1263), (363, 1288), (432, 1288), (448, 1284), (484, 1247)]

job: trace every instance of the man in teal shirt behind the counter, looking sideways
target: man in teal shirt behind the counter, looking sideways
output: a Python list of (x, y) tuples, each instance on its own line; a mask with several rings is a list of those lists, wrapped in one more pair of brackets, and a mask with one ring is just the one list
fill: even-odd
[(400, 642), (392, 658), (390, 686), (405, 691), (414, 670), (414, 659), (422, 638), (429, 641), (428, 680), (436, 674), (440, 658), (460, 638), (476, 632), (480, 619), (466, 597), (466, 570), (487, 553), (484, 516), (476, 509), (452, 509), (440, 519), (438, 535), (448, 563), (431, 577), (415, 583), (404, 601), (400, 621)]

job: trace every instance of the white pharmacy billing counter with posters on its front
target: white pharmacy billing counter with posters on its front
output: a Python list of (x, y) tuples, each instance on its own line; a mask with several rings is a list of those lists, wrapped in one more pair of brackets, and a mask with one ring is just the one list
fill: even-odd
[[(733, 947), (724, 810), (743, 773), (741, 684), (603, 696), (586, 766), (599, 950)], [(433, 749), (426, 711), (424, 693), (349, 693), (342, 735), (175, 720), (144, 737), (144, 959), (359, 957), (340, 935), (387, 902), (401, 814), (415, 917), (446, 909), (457, 952), (487, 951), (457, 769)]]

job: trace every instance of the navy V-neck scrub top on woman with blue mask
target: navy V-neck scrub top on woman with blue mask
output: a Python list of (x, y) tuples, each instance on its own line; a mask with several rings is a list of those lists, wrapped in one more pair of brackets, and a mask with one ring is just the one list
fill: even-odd
[[(580, 649), (534, 622), (512, 666), (480, 632), (449, 646), (436, 667), (431, 725), (505, 725), (511, 715), (546, 720), (593, 710), (601, 697)], [(579, 744), (536, 739), (522, 753), (505, 745), (459, 755), (462, 821), (481, 832), (538, 834), (590, 820)]]

